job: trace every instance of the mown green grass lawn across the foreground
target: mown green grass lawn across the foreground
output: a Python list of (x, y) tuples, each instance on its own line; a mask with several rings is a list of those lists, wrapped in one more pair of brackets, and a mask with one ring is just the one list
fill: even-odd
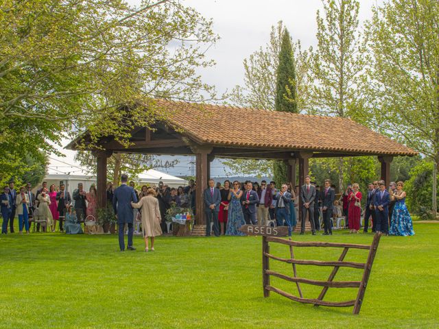
[[(439, 224), (417, 223), (412, 237), (383, 236), (359, 315), (352, 307), (313, 307), (261, 283), (261, 237), (159, 237), (156, 252), (118, 252), (117, 236), (60, 233), (0, 237), (0, 328), (438, 328)], [(297, 241), (366, 243), (372, 234), (294, 236)], [(297, 258), (336, 260), (339, 248), (296, 248)], [(271, 247), (286, 257), (285, 245)], [(366, 251), (346, 260), (364, 262)], [(271, 261), (292, 275), (291, 265)], [(298, 276), (325, 280), (331, 267), (298, 265)], [(361, 280), (340, 270), (335, 280)], [(294, 295), (295, 284), (272, 278)], [(305, 297), (319, 287), (302, 284)], [(325, 300), (355, 299), (329, 289)]]

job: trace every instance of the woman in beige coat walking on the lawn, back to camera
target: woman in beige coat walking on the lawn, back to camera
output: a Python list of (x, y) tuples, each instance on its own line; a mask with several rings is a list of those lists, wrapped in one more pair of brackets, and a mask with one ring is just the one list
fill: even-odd
[(131, 202), (132, 208), (141, 208), (142, 232), (145, 238), (145, 252), (148, 252), (148, 237), (151, 238), (151, 250), (154, 251), (154, 237), (162, 234), (160, 227), (161, 216), (158, 208), (158, 199), (152, 188), (148, 188), (146, 197), (142, 197), (137, 204)]

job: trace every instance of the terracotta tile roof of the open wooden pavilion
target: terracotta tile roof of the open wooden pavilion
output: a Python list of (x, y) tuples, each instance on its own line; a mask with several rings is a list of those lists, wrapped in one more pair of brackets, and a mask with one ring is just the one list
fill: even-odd
[(169, 114), (169, 124), (200, 143), (392, 156), (418, 154), (351, 119), (163, 99), (156, 102)]

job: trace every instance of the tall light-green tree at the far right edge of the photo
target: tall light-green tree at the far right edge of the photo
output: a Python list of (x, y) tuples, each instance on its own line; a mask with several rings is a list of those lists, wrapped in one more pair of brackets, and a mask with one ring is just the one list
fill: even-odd
[(390, 0), (367, 25), (372, 54), (364, 84), (366, 117), (381, 132), (431, 159), (437, 208), (439, 163), (439, 1)]

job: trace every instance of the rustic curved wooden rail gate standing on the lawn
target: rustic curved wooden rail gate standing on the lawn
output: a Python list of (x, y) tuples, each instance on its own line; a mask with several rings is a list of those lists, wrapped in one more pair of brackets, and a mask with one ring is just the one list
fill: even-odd
[[(371, 245), (357, 245), (351, 243), (329, 243), (329, 242), (313, 242), (313, 241), (298, 242), (298, 241), (291, 241), (291, 239), (289, 240), (282, 239), (276, 236), (262, 236), (263, 295), (264, 297), (269, 297), (270, 291), (274, 291), (275, 293), (283, 295), (284, 297), (287, 297), (290, 300), (294, 300), (296, 302), (305, 303), (305, 304), (313, 304), (314, 306), (337, 306), (337, 307), (354, 306), (353, 314), (358, 314), (361, 308), (361, 304), (363, 303), (364, 300), (364, 293), (366, 291), (366, 287), (368, 284), (373, 260), (375, 258), (375, 254), (377, 254), (380, 238), (381, 238), (381, 233), (377, 233), (375, 234)], [(281, 243), (283, 245), (287, 245), (289, 247), (289, 253), (291, 258), (279, 258), (270, 254), (269, 243)], [(293, 247), (340, 247), (343, 248), (343, 251), (337, 261), (299, 260), (294, 258)], [(354, 263), (354, 262), (344, 261), (344, 257), (346, 256), (350, 248), (368, 250), (369, 253), (366, 263)], [(285, 276), (284, 274), (271, 271), (270, 262), (269, 262), (270, 259), (292, 264), (294, 276)], [(333, 267), (333, 270), (329, 275), (327, 281), (310, 280), (307, 278), (298, 278), (296, 272), (296, 265), (330, 266)], [(361, 279), (361, 281), (333, 281), (340, 267), (363, 269), (364, 271), (363, 278)], [(270, 276), (281, 278), (289, 282), (296, 282), (296, 286), (300, 297), (291, 295), (285, 291), (282, 291), (281, 289), (277, 289), (272, 285), (270, 285)], [(316, 286), (323, 287), (323, 289), (317, 298), (304, 298), (302, 295), (302, 290), (300, 289), (300, 283), (313, 284)], [(323, 300), (324, 295), (326, 295), (329, 288), (346, 288), (346, 287), (358, 288), (357, 298), (355, 300), (348, 300), (346, 302), (327, 302)]]

